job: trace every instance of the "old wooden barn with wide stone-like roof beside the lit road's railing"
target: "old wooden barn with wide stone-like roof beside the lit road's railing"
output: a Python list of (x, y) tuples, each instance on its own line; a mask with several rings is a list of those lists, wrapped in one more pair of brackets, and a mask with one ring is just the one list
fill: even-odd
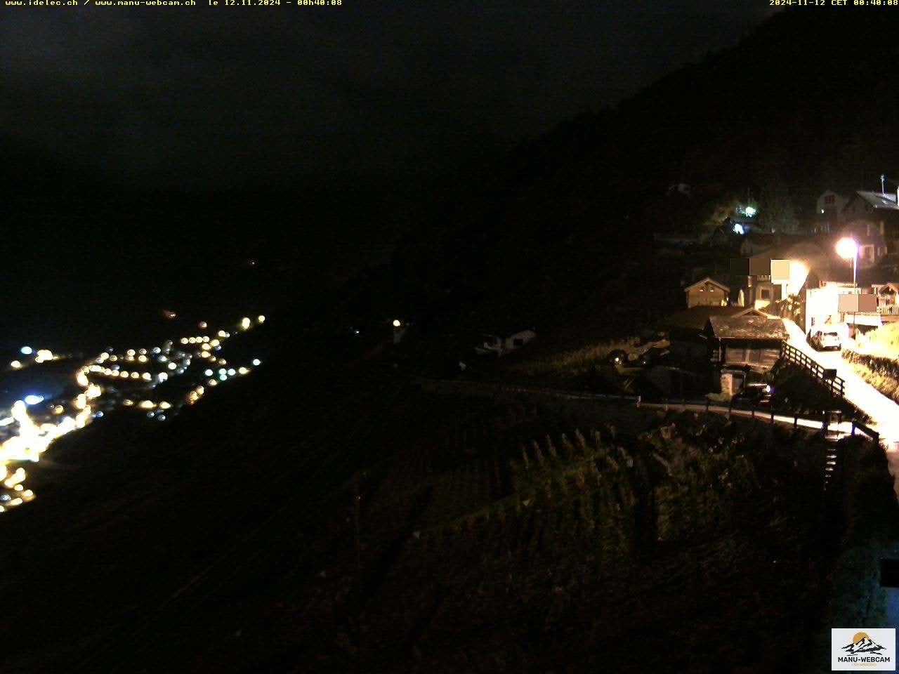
[(704, 330), (717, 365), (770, 369), (788, 339), (783, 319), (764, 315), (711, 316)]

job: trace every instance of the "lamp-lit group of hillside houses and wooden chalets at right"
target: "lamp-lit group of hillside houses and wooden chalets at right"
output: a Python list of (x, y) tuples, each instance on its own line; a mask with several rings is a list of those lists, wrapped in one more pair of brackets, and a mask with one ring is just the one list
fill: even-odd
[(805, 226), (783, 228), (761, 226), (750, 200), (703, 235), (656, 233), (657, 259), (681, 271), (683, 306), (653, 324), (669, 340), (659, 362), (681, 375), (653, 377), (656, 393), (739, 394), (783, 355), (790, 336), (778, 319), (796, 324), (816, 351), (864, 350), (871, 331), (899, 321), (897, 197), (823, 191)]

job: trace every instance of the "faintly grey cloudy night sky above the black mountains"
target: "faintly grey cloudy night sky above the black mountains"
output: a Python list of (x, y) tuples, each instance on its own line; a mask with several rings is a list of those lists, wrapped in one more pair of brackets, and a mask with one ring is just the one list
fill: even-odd
[(767, 3), (4, 11), (2, 129), (154, 184), (431, 185), (735, 40)]

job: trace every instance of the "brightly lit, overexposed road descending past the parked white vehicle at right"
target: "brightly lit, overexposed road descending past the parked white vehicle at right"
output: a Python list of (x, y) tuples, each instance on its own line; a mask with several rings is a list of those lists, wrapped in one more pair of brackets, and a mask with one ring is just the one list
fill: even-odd
[(797, 324), (784, 319), (791, 346), (816, 360), (824, 368), (835, 368), (837, 376), (845, 380), (843, 395), (851, 404), (871, 418), (871, 427), (880, 433), (894, 479), (894, 490), (899, 497), (899, 404), (881, 394), (874, 386), (856, 374), (852, 365), (843, 360), (840, 351), (816, 351), (806, 342), (806, 333)]

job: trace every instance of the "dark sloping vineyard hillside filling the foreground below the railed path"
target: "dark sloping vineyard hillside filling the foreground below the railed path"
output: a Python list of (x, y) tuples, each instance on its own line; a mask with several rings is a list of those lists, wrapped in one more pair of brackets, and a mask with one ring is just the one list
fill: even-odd
[(60, 440), (0, 521), (2, 670), (812, 664), (823, 440), (382, 365), (270, 359), (171, 423)]

